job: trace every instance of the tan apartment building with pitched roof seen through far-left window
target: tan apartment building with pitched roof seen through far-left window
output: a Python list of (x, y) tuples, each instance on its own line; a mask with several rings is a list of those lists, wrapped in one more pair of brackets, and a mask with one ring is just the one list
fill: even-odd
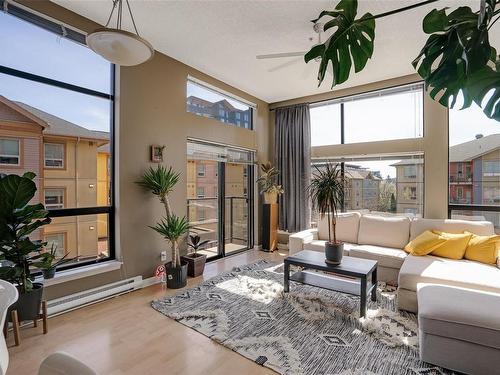
[[(36, 202), (47, 209), (109, 204), (108, 144), (108, 133), (0, 96), (0, 173), (36, 173)], [(98, 215), (54, 218), (40, 235), (59, 256), (107, 252), (107, 220)]]

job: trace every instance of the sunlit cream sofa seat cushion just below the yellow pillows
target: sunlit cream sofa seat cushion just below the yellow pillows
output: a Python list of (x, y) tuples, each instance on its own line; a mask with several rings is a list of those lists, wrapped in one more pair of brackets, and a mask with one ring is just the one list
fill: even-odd
[(399, 287), (417, 290), (418, 283), (471, 288), (500, 293), (500, 269), (466, 259), (408, 255), (399, 272)]

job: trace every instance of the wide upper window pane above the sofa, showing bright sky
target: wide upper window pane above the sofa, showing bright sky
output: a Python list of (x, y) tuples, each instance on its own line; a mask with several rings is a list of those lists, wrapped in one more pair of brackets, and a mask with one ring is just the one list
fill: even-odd
[(311, 106), (311, 145), (423, 137), (422, 84), (395, 87)]

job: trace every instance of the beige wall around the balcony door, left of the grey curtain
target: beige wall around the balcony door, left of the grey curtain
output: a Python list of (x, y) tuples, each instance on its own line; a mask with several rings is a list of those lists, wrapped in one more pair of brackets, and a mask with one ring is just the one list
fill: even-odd
[[(46, 0), (20, 3), (52, 18), (92, 31), (98, 25)], [(163, 214), (161, 205), (134, 181), (152, 164), (149, 146), (165, 145), (164, 160), (181, 172), (171, 201), (177, 214), (186, 213), (186, 139), (195, 137), (257, 150), (258, 160), (269, 159), (271, 131), (267, 103), (213, 79), (161, 53), (140, 66), (117, 72), (117, 250), (124, 266), (121, 271), (88, 277), (47, 288), (46, 298), (73, 293), (122, 277), (150, 277), (160, 263), (160, 251), (167, 247), (147, 226)], [(186, 78), (191, 75), (257, 104), (256, 131), (237, 128), (186, 112)]]

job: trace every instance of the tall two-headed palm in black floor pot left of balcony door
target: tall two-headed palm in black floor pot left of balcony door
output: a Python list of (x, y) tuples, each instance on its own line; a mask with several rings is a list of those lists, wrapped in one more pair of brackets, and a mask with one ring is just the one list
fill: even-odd
[(167, 274), (167, 286), (169, 288), (182, 288), (187, 280), (187, 262), (181, 262), (179, 256), (179, 241), (189, 230), (186, 218), (174, 215), (170, 206), (169, 194), (173, 191), (179, 181), (180, 174), (172, 169), (158, 165), (150, 167), (137, 184), (157, 196), (165, 208), (165, 217), (153, 228), (165, 237), (171, 245), (171, 262), (165, 265)]

